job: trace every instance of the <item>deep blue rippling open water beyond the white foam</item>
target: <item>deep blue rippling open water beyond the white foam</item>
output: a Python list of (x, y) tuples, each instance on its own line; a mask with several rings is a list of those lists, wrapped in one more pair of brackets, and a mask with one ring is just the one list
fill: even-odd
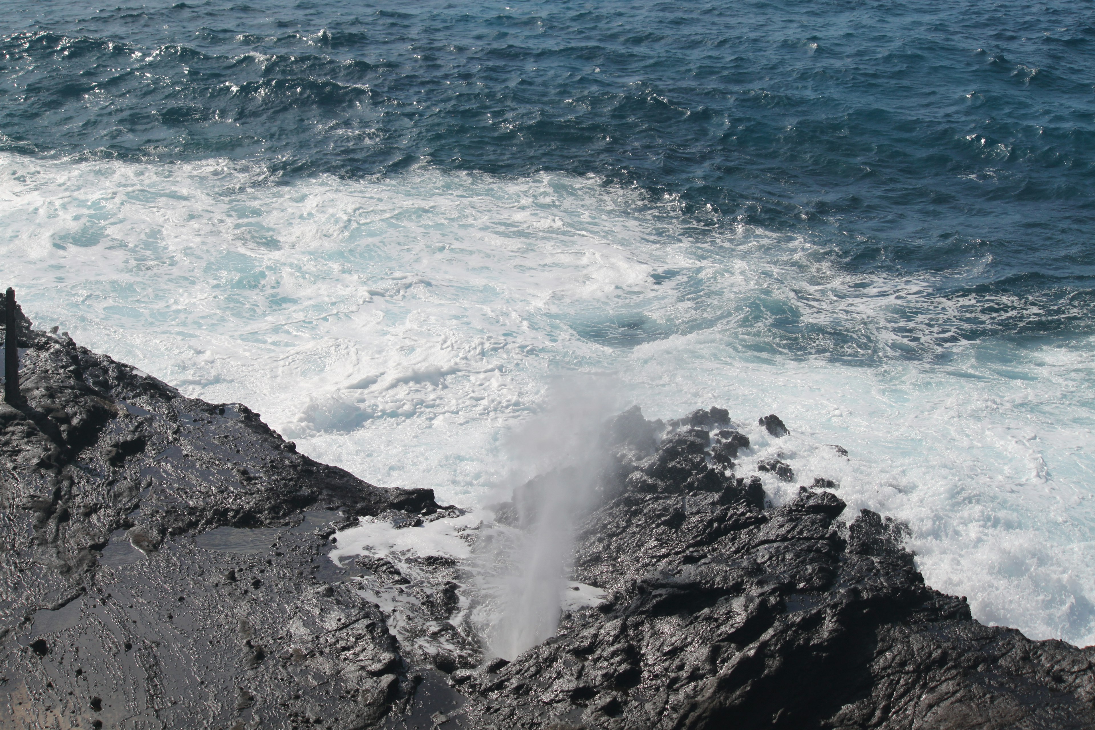
[(931, 273), (955, 341), (1095, 321), (1091, 1), (101, 4), (7, 4), (0, 148), (592, 173)]

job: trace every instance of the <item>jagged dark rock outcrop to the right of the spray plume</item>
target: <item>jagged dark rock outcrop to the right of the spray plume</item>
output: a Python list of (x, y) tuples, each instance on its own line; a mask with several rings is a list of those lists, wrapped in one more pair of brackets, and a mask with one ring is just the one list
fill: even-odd
[(660, 443), (637, 409), (616, 419), (573, 576), (609, 601), (511, 663), (454, 672), (465, 727), (1095, 727), (1095, 648), (979, 624), (924, 584), (900, 524), (832, 491), (765, 509), (725, 466), (748, 447), (727, 416)]

